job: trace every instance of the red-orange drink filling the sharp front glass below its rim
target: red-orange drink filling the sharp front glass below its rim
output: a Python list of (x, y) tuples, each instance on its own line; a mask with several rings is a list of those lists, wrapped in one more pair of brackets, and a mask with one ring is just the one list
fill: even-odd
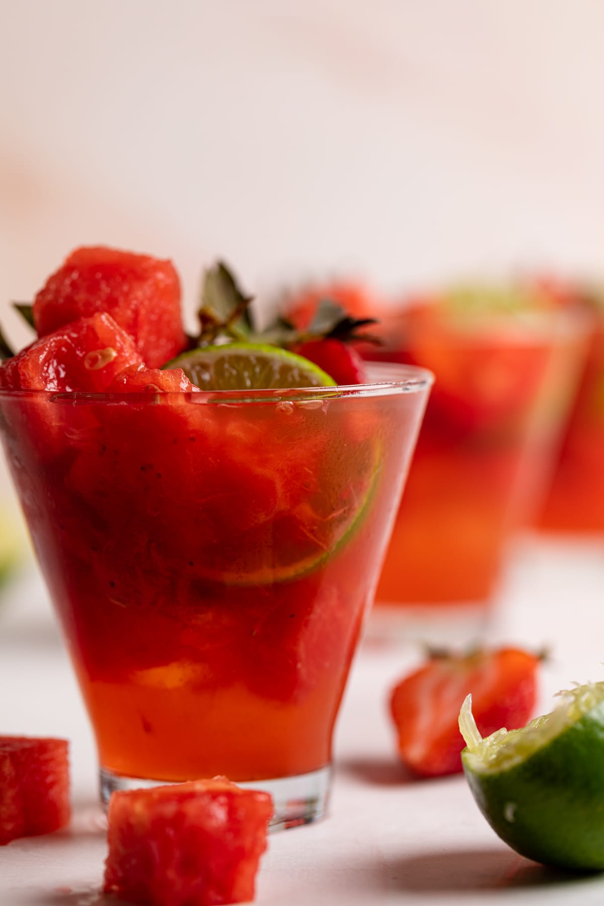
[(429, 388), (378, 371), (390, 382), (252, 399), (0, 394), (106, 794), (329, 766)]

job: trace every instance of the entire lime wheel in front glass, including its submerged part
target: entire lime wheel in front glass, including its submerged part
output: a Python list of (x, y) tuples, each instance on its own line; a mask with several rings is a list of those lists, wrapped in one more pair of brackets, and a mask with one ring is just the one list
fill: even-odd
[(211, 492), (197, 516), (211, 534), (200, 538), (197, 573), (229, 585), (288, 582), (350, 541), (369, 511), (382, 461), (367, 408), (340, 400), (325, 371), (275, 346), (200, 347), (166, 367), (182, 368), (211, 392), (326, 389), (325, 399), (294, 394), (284, 408), (263, 400), (211, 413), (220, 455), (206, 463)]

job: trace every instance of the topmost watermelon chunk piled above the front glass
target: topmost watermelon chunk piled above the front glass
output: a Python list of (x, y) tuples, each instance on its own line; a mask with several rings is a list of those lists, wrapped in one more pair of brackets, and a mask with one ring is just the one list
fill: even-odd
[(35, 297), (39, 336), (106, 312), (133, 337), (142, 359), (157, 368), (187, 346), (174, 265), (113, 248), (78, 248)]

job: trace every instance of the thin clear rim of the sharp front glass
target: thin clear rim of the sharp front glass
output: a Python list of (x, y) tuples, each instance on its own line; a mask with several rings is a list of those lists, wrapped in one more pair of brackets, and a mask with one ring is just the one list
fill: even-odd
[(0, 400), (47, 400), (71, 405), (85, 403), (141, 403), (156, 404), (159, 398), (182, 398), (192, 403), (296, 402), (303, 400), (341, 400), (377, 396), (398, 396), (429, 390), (435, 377), (432, 371), (418, 365), (398, 362), (365, 362), (369, 378), (375, 380), (361, 384), (338, 384), (334, 387), (285, 387), (270, 390), (141, 390), (140, 392), (89, 392), (87, 390), (3, 390)]

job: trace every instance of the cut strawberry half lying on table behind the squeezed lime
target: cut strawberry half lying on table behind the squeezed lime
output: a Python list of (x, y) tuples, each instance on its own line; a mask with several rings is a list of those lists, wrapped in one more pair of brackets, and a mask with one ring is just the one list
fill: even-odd
[(461, 772), (465, 743), (457, 719), (469, 693), (484, 737), (501, 727), (523, 727), (534, 708), (540, 660), (517, 648), (433, 653), (390, 698), (403, 763), (425, 777)]

